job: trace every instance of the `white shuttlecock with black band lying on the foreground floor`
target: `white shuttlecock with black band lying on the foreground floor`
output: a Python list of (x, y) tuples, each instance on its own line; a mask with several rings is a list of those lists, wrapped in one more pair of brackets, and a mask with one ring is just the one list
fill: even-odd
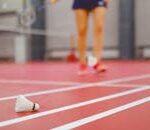
[(40, 108), (39, 104), (33, 103), (23, 95), (17, 97), (15, 111), (16, 112), (31, 112), (37, 111)]

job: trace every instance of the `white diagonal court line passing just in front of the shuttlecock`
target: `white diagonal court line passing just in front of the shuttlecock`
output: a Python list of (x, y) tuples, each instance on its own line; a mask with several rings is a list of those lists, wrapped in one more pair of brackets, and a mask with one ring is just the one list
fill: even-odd
[(80, 102), (80, 103), (60, 107), (60, 108), (49, 110), (49, 111), (40, 112), (40, 113), (29, 115), (29, 116), (24, 116), (24, 117), (20, 117), (20, 118), (14, 118), (14, 119), (2, 121), (2, 122), (0, 122), (0, 127), (13, 125), (13, 124), (16, 124), (16, 123), (19, 123), (19, 122), (23, 122), (23, 121), (27, 121), (27, 120), (31, 120), (31, 119), (35, 119), (35, 118), (39, 118), (39, 117), (43, 117), (43, 116), (47, 116), (47, 115), (50, 115), (50, 114), (55, 114), (55, 113), (66, 111), (66, 110), (71, 110), (71, 109), (83, 107), (83, 106), (90, 105), (90, 104), (93, 104), (93, 103), (98, 103), (98, 102), (118, 98), (118, 97), (121, 97), (121, 96), (125, 96), (125, 95), (129, 95), (129, 94), (145, 91), (145, 90), (148, 90), (148, 89), (150, 89), (150, 86), (143, 86), (143, 87), (140, 87), (140, 88), (136, 88), (136, 89), (132, 89), (132, 90), (116, 93), (116, 94), (111, 94), (111, 95), (108, 95), (108, 96), (104, 96), (104, 97), (100, 97), (100, 98), (96, 98), (96, 99), (92, 99), (92, 100), (88, 100), (88, 101), (84, 101), (84, 102)]

